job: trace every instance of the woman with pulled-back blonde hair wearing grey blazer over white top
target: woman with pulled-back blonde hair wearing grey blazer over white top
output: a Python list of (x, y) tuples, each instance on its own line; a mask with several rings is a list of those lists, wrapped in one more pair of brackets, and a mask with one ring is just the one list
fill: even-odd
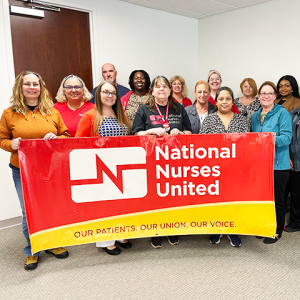
[(210, 86), (205, 80), (200, 80), (195, 85), (196, 101), (185, 108), (192, 126), (192, 133), (199, 133), (204, 119), (213, 113), (215, 107), (208, 101)]

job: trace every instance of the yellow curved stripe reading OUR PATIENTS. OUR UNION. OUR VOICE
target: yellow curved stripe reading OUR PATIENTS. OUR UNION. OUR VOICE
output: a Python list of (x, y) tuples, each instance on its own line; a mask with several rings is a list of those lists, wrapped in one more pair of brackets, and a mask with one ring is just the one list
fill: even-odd
[(175, 207), (92, 220), (34, 233), (33, 252), (107, 240), (155, 235), (241, 234), (274, 236), (273, 201)]

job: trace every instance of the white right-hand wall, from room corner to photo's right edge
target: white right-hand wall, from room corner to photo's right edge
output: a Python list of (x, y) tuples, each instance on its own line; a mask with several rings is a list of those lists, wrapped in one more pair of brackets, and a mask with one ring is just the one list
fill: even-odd
[(299, 0), (275, 0), (199, 20), (200, 78), (219, 70), (235, 96), (246, 77), (258, 87), (283, 75), (300, 83), (299, 11)]

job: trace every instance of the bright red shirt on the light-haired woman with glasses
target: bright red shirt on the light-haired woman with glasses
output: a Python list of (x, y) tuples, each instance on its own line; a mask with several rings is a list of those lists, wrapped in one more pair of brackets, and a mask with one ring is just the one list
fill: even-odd
[(53, 107), (60, 112), (64, 123), (68, 127), (70, 136), (75, 137), (76, 129), (82, 115), (88, 110), (91, 110), (94, 107), (94, 104), (90, 102), (84, 102), (81, 107), (72, 110), (69, 108), (67, 102), (57, 102), (53, 105)]

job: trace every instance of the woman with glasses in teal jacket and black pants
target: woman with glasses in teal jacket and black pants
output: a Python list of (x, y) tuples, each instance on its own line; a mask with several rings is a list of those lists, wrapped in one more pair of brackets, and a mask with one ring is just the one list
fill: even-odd
[(285, 222), (284, 193), (290, 170), (289, 144), (292, 139), (292, 120), (289, 112), (283, 106), (275, 104), (276, 96), (275, 84), (271, 81), (264, 82), (258, 90), (261, 108), (251, 118), (252, 132), (276, 133), (274, 192), (277, 228), (274, 239), (264, 238), (265, 244), (273, 244), (282, 236)]

